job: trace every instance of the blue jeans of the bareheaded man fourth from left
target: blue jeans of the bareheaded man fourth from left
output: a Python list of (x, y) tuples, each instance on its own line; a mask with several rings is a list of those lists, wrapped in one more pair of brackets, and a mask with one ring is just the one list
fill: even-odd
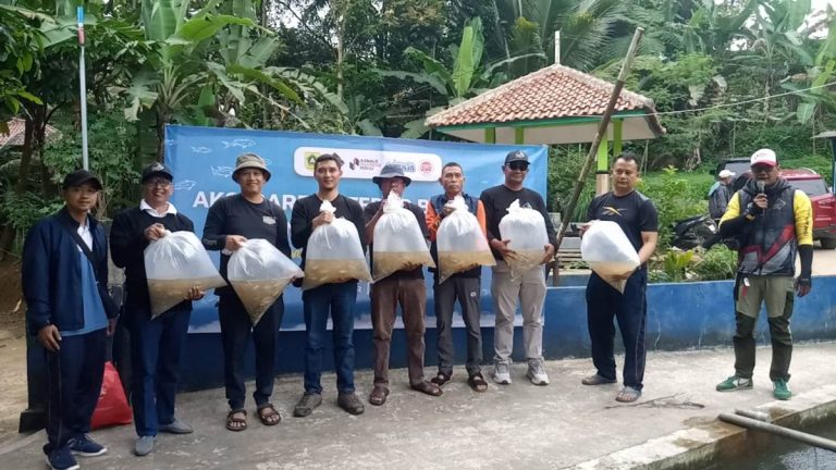
[(324, 284), (302, 293), (305, 313), (305, 393), (321, 394), (322, 351), (325, 348), (328, 313), (331, 312), (334, 369), (339, 393), (354, 392), (354, 304), (357, 281)]

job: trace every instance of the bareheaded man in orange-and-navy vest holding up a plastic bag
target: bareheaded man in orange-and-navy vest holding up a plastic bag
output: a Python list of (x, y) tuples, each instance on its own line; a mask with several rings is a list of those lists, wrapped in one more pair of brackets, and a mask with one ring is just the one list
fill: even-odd
[[(435, 334), (438, 335), (439, 373), (432, 382), (439, 386), (447, 383), (453, 375), (453, 309), (456, 300), (462, 307), (462, 318), (467, 329), (467, 383), (476, 392), (488, 389), (482, 376), (482, 330), (480, 322), (479, 298), (481, 294), (481, 263), (495, 264), (485, 238), (484, 205), (479, 199), (466, 194), (465, 174), (456, 162), (446, 163), (441, 169), (439, 183), (444, 193), (430, 198), (427, 205), (427, 228), (430, 232), (433, 255), (438, 269), (433, 283), (435, 300)], [(439, 228), (445, 231), (438, 240)], [(455, 226), (454, 226), (455, 225)], [(450, 251), (439, 256), (439, 245), (458, 243), (466, 250)], [(484, 248), (484, 251), (479, 248)], [(447, 267), (447, 264), (454, 264)], [(462, 265), (459, 265), (462, 264)], [(450, 270), (452, 273), (447, 273)]]

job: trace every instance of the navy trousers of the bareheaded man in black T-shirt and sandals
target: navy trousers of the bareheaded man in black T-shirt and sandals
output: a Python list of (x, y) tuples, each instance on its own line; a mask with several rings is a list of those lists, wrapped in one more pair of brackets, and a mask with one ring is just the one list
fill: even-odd
[(640, 269), (627, 280), (624, 294), (592, 273), (587, 284), (587, 321), (592, 343), (592, 363), (598, 374), (615, 380), (615, 325), (618, 321), (624, 342), (624, 385), (641, 389), (644, 380), (648, 322), (648, 272)]

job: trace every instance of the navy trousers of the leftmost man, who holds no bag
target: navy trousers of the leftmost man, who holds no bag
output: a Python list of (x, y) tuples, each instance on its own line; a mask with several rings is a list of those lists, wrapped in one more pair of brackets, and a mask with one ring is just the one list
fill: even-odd
[(63, 448), (90, 432), (90, 418), (99, 401), (108, 336), (104, 329), (64, 336), (61, 349), (47, 351), (47, 438), (44, 453)]

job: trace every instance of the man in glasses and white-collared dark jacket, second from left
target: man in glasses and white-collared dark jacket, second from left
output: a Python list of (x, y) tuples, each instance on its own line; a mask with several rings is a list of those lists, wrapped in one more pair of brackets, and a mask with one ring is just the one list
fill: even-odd
[[(113, 218), (110, 246), (113, 263), (125, 269), (125, 309), (122, 321), (131, 333), (131, 401), (139, 436), (134, 454), (153, 449), (159, 431), (188, 434), (192, 426), (174, 417), (180, 358), (186, 341), (192, 300), (204, 296), (193, 288), (182, 302), (151, 320), (145, 248), (168, 232), (194, 232), (192, 221), (169, 202), (173, 174), (162, 163), (143, 170), (143, 200)], [(167, 232), (168, 231), (168, 232)]]

